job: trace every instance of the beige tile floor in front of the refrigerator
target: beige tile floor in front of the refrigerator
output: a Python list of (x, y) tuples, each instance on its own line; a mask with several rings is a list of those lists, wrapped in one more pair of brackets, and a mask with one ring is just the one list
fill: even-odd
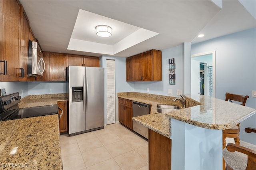
[(148, 170), (148, 141), (120, 124), (60, 135), (63, 170)]

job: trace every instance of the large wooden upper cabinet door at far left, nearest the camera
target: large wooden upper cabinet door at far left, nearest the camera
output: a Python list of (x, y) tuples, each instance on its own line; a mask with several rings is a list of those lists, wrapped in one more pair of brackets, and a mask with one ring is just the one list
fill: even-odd
[[(19, 34), (20, 4), (18, 1), (0, 1), (0, 60), (7, 61), (7, 73), (1, 81), (19, 81)], [(0, 62), (0, 73), (4, 73), (4, 62)]]

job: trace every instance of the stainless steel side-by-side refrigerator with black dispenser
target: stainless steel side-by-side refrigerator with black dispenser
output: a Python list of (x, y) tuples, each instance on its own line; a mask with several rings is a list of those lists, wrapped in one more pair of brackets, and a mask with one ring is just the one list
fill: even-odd
[(68, 134), (104, 128), (104, 68), (67, 68)]

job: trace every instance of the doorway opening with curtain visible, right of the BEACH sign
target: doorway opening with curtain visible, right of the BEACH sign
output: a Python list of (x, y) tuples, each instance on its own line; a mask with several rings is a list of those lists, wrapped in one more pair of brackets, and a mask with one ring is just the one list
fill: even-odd
[(191, 95), (215, 97), (215, 51), (191, 55)]

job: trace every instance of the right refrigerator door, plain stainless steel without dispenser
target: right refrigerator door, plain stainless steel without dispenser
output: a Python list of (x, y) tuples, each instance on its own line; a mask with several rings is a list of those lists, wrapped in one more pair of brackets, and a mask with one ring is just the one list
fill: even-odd
[(104, 127), (104, 68), (86, 67), (86, 130)]

